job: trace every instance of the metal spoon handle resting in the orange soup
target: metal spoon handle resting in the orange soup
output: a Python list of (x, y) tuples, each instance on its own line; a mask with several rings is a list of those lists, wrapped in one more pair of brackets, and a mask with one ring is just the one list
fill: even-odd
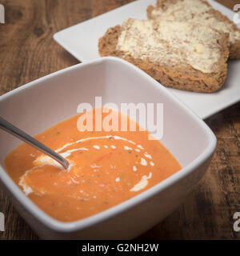
[(22, 141), (30, 144), (31, 146), (34, 146), (38, 150), (42, 151), (44, 154), (50, 156), (50, 158), (54, 158), (54, 160), (59, 162), (64, 167), (64, 169), (68, 168), (69, 162), (67, 162), (65, 158), (62, 158), (60, 154), (56, 153), (54, 150), (51, 150), (49, 147), (45, 146), (41, 142), (38, 142), (35, 138), (26, 134), (24, 131), (18, 129), (16, 126), (12, 125), (10, 122), (7, 122), (1, 117), (0, 128), (10, 134), (13, 134), (15, 137), (20, 138)]

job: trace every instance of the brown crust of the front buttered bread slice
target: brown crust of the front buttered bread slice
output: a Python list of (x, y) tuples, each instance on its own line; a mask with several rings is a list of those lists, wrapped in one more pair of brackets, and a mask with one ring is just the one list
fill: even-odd
[(106, 31), (106, 34), (98, 41), (99, 54), (103, 56), (115, 56), (124, 58), (126, 61), (138, 66), (151, 77), (161, 82), (164, 86), (177, 88), (180, 90), (190, 90), (194, 92), (210, 93), (221, 88), (227, 74), (226, 60), (229, 55), (228, 34), (222, 34), (219, 45), (222, 47), (222, 58), (218, 62), (218, 70), (214, 73), (206, 74), (195, 70), (186, 64), (182, 68), (160, 65), (155, 62), (147, 62), (140, 58), (133, 58), (125, 55), (116, 49), (118, 37), (121, 34), (121, 26), (114, 26)]

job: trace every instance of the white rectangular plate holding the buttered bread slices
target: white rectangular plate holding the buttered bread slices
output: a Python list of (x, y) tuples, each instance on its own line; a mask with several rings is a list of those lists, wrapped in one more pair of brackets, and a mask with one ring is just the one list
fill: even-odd
[[(156, 0), (138, 0), (126, 6), (111, 10), (86, 22), (70, 26), (54, 34), (54, 39), (80, 62), (100, 58), (98, 54), (98, 39), (105, 34), (110, 26), (122, 24), (127, 18), (146, 19), (146, 7), (154, 5)], [(231, 20), (234, 12), (218, 2), (209, 0), (215, 9), (225, 14)], [(238, 24), (238, 27), (239, 24)], [(190, 106), (200, 118), (210, 115), (233, 105), (240, 100), (240, 60), (229, 61), (228, 76), (221, 90), (211, 94), (201, 94), (184, 90), (169, 90)]]

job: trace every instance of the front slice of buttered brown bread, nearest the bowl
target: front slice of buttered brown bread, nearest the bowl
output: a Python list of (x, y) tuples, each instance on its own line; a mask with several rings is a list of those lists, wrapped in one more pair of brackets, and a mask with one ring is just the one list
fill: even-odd
[(101, 56), (124, 58), (164, 86), (218, 90), (227, 73), (228, 34), (190, 22), (128, 19), (99, 39)]

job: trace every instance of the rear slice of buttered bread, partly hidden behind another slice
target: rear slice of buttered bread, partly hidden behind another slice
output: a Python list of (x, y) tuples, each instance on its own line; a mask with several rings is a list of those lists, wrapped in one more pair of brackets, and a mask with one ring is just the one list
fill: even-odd
[(229, 33), (230, 58), (240, 58), (238, 26), (204, 0), (158, 0), (156, 7), (148, 6), (147, 16), (150, 19), (196, 22)]

